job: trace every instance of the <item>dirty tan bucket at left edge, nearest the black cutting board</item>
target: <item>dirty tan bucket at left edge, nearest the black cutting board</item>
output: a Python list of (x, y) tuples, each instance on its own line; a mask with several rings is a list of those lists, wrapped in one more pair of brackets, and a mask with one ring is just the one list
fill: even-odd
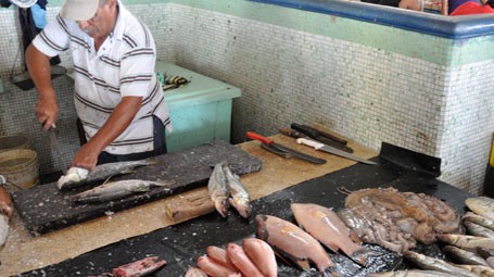
[(0, 153), (0, 175), (8, 182), (28, 189), (39, 184), (38, 155), (29, 149), (14, 149)]

